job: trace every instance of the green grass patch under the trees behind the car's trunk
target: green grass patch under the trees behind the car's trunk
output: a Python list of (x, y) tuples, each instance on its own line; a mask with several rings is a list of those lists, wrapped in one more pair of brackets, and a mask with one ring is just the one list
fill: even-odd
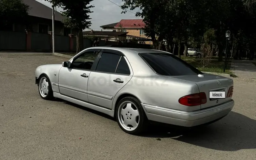
[[(218, 61), (218, 57), (212, 57), (211, 62), (206, 66), (202, 67), (200, 64), (200, 59), (196, 57), (181, 57), (184, 61), (191, 64), (192, 66), (196, 67), (200, 71), (205, 72), (213, 72), (213, 73), (224, 73), (224, 60)], [(231, 68), (231, 61), (227, 65), (227, 69), (225, 70), (225, 74), (233, 75), (233, 72), (230, 70)]]

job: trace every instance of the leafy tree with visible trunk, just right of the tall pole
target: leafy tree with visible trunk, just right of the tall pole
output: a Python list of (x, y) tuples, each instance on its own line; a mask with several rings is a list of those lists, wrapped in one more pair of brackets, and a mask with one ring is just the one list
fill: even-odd
[(62, 14), (67, 17), (63, 20), (66, 27), (70, 27), (76, 31), (76, 53), (83, 49), (83, 29), (91, 26), (89, 13), (93, 13), (90, 9), (93, 5), (89, 5), (93, 0), (45, 0), (59, 6), (64, 11)]

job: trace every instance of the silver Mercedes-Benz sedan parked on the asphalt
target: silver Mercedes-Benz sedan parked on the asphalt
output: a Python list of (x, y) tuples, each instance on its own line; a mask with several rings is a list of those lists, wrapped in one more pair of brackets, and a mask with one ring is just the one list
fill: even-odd
[(140, 134), (150, 121), (192, 127), (233, 108), (233, 80), (203, 74), (175, 55), (153, 49), (91, 47), (62, 64), (35, 70), (43, 99), (61, 98), (115, 117)]

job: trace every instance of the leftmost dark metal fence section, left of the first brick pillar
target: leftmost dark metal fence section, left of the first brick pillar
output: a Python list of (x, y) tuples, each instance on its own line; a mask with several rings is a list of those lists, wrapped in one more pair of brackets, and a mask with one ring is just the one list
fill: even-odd
[(0, 50), (26, 50), (26, 32), (0, 31)]

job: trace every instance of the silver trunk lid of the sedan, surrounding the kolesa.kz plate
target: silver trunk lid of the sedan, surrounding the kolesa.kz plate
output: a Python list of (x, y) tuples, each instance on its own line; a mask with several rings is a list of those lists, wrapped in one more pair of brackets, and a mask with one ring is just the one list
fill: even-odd
[[(204, 92), (207, 96), (207, 103), (201, 105), (201, 109), (222, 104), (232, 98), (232, 97), (227, 98), (229, 87), (233, 86), (233, 80), (231, 78), (216, 76), (211, 74), (167, 76), (167, 77), (196, 83), (198, 86), (199, 92)], [(225, 98), (211, 99), (210, 91), (225, 91)]]

